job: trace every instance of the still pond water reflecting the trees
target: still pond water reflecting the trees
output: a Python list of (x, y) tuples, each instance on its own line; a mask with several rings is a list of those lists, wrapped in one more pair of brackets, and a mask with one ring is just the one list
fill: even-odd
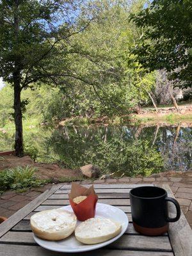
[(119, 177), (150, 175), (192, 168), (191, 126), (67, 126), (28, 131), (24, 138), (29, 151), (38, 149), (37, 161), (65, 168), (92, 163)]

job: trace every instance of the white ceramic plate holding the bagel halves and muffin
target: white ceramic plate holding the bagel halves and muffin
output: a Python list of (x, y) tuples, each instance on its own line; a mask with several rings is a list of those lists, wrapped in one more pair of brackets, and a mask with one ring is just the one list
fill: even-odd
[[(61, 209), (65, 209), (67, 211), (72, 212), (72, 207), (70, 205), (64, 206)], [(125, 212), (123, 212), (121, 209), (118, 209), (117, 207), (108, 204), (97, 203), (95, 218), (109, 218), (118, 221), (122, 224), (122, 231), (120, 232), (120, 234), (118, 234), (118, 236), (113, 237), (112, 239), (104, 243), (90, 245), (82, 244), (79, 241), (77, 241), (74, 234), (60, 241), (46, 241), (38, 238), (34, 234), (33, 237), (36, 243), (38, 243), (40, 246), (48, 250), (56, 252), (86, 252), (101, 248), (116, 241), (116, 239), (118, 239), (124, 234), (129, 223)], [(77, 225), (79, 225), (79, 223), (81, 223), (81, 221), (77, 221)]]

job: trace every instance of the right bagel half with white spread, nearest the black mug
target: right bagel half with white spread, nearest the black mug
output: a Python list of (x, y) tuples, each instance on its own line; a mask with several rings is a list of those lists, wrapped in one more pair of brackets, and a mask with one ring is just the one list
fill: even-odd
[(98, 244), (120, 234), (122, 225), (104, 218), (91, 218), (77, 226), (76, 239), (83, 244)]

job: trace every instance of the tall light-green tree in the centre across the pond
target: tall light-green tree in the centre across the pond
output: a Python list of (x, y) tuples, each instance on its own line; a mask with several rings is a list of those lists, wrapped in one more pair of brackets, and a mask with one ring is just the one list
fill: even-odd
[[(70, 55), (70, 62), (76, 76), (68, 81), (74, 86), (64, 88), (63, 92), (70, 99), (68, 106), (73, 115), (127, 114), (139, 102), (148, 100), (148, 92), (154, 86), (154, 74), (147, 74), (147, 70), (135, 63), (136, 56), (131, 52), (141, 31), (128, 17), (130, 12), (141, 10), (143, 1), (93, 3), (95, 6), (89, 13), (92, 16), (98, 9), (95, 19), (71, 40), (74, 54)], [(83, 20), (82, 15), (78, 24)]]

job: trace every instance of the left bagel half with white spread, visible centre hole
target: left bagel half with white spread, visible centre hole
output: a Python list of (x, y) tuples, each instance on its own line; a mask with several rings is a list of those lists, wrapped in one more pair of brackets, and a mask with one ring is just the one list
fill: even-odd
[(45, 240), (61, 240), (70, 236), (76, 228), (74, 213), (63, 209), (37, 212), (31, 216), (31, 229), (34, 234)]

